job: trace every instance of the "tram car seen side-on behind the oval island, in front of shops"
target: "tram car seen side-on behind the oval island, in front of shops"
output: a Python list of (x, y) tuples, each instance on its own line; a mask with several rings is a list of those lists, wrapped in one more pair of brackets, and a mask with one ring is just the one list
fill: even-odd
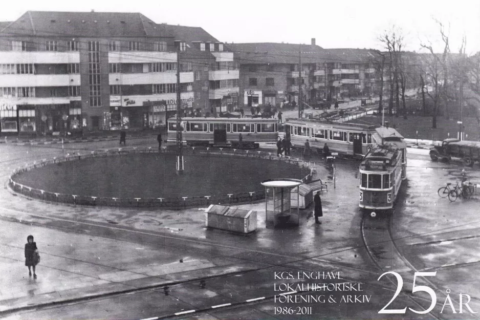
[[(182, 118), (183, 143), (192, 146), (257, 148), (259, 142), (275, 142), (277, 119)], [(168, 119), (167, 141), (177, 141), (177, 119)]]

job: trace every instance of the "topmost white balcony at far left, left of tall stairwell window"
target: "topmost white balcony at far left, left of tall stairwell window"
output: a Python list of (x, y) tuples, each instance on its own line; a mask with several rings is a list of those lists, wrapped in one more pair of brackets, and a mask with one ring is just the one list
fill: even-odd
[(0, 51), (1, 63), (80, 63), (80, 53), (52, 51)]

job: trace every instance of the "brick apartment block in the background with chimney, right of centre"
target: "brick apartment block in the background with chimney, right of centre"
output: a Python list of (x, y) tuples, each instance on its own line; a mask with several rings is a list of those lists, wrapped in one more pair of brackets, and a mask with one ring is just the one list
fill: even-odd
[(311, 45), (229, 46), (239, 57), (239, 101), (245, 108), (297, 102), (300, 85), (303, 101), (314, 103), (319, 99), (368, 94), (375, 83), (368, 50), (322, 49), (315, 45), (314, 38)]

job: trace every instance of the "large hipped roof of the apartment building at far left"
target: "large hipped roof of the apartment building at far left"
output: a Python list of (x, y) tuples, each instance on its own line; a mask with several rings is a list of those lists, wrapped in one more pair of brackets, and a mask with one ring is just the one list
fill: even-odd
[(141, 13), (27, 11), (1, 32), (28, 36), (171, 37)]

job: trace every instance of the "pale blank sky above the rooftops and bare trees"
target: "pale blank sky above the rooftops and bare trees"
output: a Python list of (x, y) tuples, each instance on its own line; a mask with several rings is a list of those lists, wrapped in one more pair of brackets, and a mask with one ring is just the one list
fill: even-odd
[(450, 49), (458, 52), (467, 38), (467, 54), (480, 51), (480, 0), (392, 1), (265, 1), (265, 0), (23, 0), (2, 5), (1, 21), (12, 21), (28, 10), (140, 12), (156, 23), (202, 27), (220, 41), (285, 42), (323, 48), (383, 49), (378, 38), (396, 26), (405, 50), (422, 52), (431, 42), (443, 51), (440, 27), (445, 25)]

